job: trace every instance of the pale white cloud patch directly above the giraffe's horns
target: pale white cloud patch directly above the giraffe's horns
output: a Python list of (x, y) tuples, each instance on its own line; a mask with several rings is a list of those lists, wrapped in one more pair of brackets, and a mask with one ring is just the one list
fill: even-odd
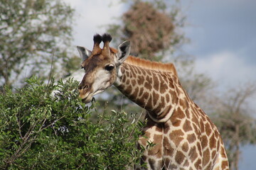
[(110, 1), (65, 0), (75, 8), (74, 45), (92, 48), (92, 37), (95, 33), (105, 33), (105, 26), (114, 23), (114, 17), (121, 16), (124, 4), (113, 4)]

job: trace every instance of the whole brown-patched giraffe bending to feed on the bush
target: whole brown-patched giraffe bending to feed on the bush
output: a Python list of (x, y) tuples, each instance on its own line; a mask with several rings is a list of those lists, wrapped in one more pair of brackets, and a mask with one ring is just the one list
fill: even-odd
[[(146, 110), (142, 163), (136, 169), (229, 169), (223, 140), (208, 115), (189, 98), (174, 64), (129, 55), (130, 42), (110, 47), (109, 34), (95, 35), (92, 51), (78, 46), (85, 75), (78, 86), (87, 103), (114, 85)], [(104, 45), (101, 48), (100, 43)], [(146, 149), (148, 142), (153, 147)]]

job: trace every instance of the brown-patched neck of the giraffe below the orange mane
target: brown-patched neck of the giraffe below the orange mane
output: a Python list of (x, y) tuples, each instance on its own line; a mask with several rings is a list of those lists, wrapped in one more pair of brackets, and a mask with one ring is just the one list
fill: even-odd
[(117, 89), (131, 101), (145, 108), (155, 122), (166, 122), (171, 118), (184, 92), (176, 74), (145, 69), (123, 63), (117, 71)]

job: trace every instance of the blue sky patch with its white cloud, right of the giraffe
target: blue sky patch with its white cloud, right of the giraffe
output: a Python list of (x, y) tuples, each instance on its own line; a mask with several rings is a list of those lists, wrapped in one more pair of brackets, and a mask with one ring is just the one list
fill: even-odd
[(185, 49), (198, 71), (223, 86), (256, 81), (256, 1), (189, 1), (183, 8), (191, 39)]

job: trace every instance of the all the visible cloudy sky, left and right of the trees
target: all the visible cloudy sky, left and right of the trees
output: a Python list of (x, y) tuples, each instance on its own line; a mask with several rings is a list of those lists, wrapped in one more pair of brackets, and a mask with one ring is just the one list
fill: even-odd
[[(102, 27), (115, 23), (127, 10), (115, 1), (65, 0), (78, 14), (74, 24), (73, 46), (92, 49), (92, 36), (105, 33)], [(110, 3), (114, 4), (110, 6)], [(256, 82), (256, 1), (181, 1), (186, 15), (183, 32), (191, 39), (183, 50), (196, 57), (196, 70), (211, 77), (220, 89), (247, 81)], [(82, 79), (82, 78), (78, 78)], [(256, 99), (251, 102), (256, 110)], [(242, 149), (240, 169), (254, 169), (255, 146)]]

